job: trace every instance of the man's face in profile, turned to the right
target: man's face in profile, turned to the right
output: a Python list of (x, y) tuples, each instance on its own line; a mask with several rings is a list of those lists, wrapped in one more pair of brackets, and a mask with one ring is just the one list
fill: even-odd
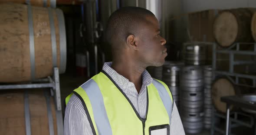
[(166, 40), (161, 37), (158, 19), (155, 16), (147, 16), (146, 21), (138, 30), (138, 55), (139, 60), (146, 66), (161, 66), (167, 56)]

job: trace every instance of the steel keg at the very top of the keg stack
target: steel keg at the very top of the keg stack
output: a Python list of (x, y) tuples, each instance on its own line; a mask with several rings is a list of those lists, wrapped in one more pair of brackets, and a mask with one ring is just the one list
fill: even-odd
[(206, 61), (206, 45), (192, 43), (185, 47), (186, 65), (203, 65)]

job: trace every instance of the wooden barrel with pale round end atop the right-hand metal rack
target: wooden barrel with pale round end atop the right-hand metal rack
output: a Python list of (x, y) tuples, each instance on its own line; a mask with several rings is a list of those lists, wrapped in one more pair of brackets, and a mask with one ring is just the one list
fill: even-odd
[(213, 36), (223, 48), (234, 42), (252, 42), (250, 9), (234, 9), (221, 12), (213, 23)]

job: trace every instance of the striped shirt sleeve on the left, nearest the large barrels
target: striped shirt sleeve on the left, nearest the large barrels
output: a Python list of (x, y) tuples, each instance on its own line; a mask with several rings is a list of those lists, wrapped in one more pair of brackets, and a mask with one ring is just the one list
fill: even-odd
[(82, 102), (72, 95), (66, 106), (64, 135), (93, 135)]

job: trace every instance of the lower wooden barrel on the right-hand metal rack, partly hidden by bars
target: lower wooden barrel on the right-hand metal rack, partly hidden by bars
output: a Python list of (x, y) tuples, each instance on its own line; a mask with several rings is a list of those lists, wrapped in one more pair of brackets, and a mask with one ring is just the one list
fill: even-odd
[[(244, 84), (246, 84), (246, 80), (241, 80)], [(240, 87), (234, 85), (227, 77), (219, 77), (213, 81), (211, 96), (213, 105), (215, 108), (222, 112), (226, 113), (226, 103), (220, 101), (220, 97), (222, 96), (234, 96), (249, 93), (249, 89), (246, 87)], [(231, 107), (231, 110), (233, 107)]]

